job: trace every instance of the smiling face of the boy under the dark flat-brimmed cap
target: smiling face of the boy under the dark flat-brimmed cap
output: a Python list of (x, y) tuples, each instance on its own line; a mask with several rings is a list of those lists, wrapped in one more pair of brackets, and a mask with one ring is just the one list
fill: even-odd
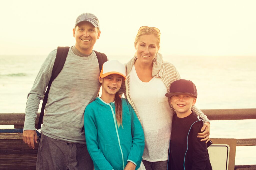
[(196, 98), (187, 94), (174, 95), (171, 97), (171, 104), (176, 110), (179, 118), (190, 115), (191, 107), (196, 103)]

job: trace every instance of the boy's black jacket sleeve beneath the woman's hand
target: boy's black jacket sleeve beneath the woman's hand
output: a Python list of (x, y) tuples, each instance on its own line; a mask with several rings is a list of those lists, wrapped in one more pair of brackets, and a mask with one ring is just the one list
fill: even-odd
[(202, 169), (206, 167), (206, 156), (207, 156), (207, 146), (205, 141), (200, 141), (201, 138), (197, 138), (197, 133), (201, 132), (203, 126), (202, 121), (194, 123), (191, 128), (190, 140), (193, 147), (192, 153), (192, 168), (191, 170)]

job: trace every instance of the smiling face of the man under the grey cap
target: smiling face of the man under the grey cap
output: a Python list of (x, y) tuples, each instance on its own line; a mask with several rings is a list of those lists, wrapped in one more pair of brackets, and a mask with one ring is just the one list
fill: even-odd
[(82, 21), (73, 29), (73, 37), (76, 38), (75, 47), (83, 54), (90, 54), (100, 31), (88, 21)]

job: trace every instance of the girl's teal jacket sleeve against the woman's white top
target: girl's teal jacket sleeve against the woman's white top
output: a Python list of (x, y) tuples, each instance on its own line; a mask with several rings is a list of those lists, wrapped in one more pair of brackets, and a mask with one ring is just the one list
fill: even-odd
[[(128, 103), (128, 102), (127, 102)], [(132, 106), (128, 103), (131, 114), (131, 127), (132, 127), (132, 147), (128, 155), (128, 160), (135, 163), (136, 169), (140, 167), (142, 155), (145, 146), (144, 132), (140, 121), (138, 120)]]

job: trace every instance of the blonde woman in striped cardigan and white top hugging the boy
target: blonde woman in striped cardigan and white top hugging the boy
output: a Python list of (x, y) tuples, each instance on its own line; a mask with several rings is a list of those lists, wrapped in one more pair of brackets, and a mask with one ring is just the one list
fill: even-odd
[[(138, 30), (134, 46), (136, 55), (126, 64), (126, 80), (120, 94), (127, 100), (141, 122), (145, 135), (142, 162), (146, 169), (167, 169), (172, 117), (175, 112), (165, 94), (173, 81), (180, 79), (175, 66), (164, 62), (160, 48), (160, 30), (143, 26)], [(204, 121), (202, 141), (208, 142), (210, 124), (195, 106), (192, 110)]]

